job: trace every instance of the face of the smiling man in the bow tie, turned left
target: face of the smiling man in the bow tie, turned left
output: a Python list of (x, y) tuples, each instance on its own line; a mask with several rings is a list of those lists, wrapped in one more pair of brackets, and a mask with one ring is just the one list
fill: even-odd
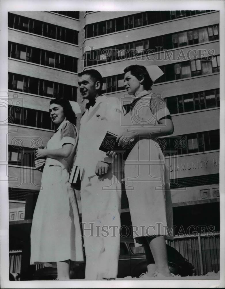
[(79, 77), (78, 85), (84, 99), (94, 99), (97, 95), (96, 83), (90, 75), (84, 74)]

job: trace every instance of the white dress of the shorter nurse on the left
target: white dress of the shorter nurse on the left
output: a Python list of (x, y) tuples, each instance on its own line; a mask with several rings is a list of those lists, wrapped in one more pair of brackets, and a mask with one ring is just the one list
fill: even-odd
[[(74, 148), (77, 143), (76, 129), (69, 121), (61, 123), (47, 149), (65, 143)], [(69, 166), (73, 155), (61, 161)], [(31, 228), (31, 264), (84, 260), (77, 200), (62, 162), (47, 158), (44, 166)]]

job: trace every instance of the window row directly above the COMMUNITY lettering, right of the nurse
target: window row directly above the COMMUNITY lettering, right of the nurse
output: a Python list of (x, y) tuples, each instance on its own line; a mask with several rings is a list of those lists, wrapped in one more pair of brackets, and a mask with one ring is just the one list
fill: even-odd
[(220, 149), (220, 130), (198, 132), (182, 136), (172, 136), (158, 139), (158, 143), (164, 153), (168, 156), (173, 154), (197, 153)]

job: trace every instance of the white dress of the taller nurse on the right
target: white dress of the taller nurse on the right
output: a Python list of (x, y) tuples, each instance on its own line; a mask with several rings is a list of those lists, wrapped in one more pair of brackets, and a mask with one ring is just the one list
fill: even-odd
[[(150, 92), (139, 93), (136, 100), (133, 109), (123, 116), (124, 125), (146, 125), (147, 130), (152, 125), (154, 129), (156, 121), (169, 116), (165, 101), (153, 98)], [(125, 161), (124, 176), (135, 240), (143, 236), (172, 237), (169, 178), (159, 144), (139, 138)]]

